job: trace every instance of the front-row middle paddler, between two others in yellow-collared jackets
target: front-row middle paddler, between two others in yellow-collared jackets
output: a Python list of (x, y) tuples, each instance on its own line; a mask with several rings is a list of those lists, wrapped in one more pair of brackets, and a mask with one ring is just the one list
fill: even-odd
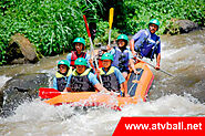
[(79, 57), (74, 62), (75, 70), (69, 76), (64, 92), (94, 92), (95, 88), (102, 92), (109, 92), (103, 87), (88, 66), (86, 60)]

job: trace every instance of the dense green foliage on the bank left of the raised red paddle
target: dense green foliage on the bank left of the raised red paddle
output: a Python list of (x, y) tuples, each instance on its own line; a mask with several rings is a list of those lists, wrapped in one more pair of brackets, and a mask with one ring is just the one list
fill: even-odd
[(71, 51), (76, 36), (86, 38), (83, 11), (91, 7), (86, 0), (0, 1), (0, 64), (7, 61), (4, 51), (14, 33), (24, 34), (43, 55)]

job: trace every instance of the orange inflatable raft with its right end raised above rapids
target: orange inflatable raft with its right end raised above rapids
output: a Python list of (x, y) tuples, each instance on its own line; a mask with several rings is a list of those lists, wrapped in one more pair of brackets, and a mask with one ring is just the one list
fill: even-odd
[(50, 105), (72, 104), (74, 106), (99, 106), (105, 105), (107, 107), (120, 109), (120, 107), (127, 104), (136, 104), (137, 102), (145, 102), (148, 90), (154, 80), (154, 75), (150, 67), (140, 62), (135, 64), (135, 69), (140, 72), (135, 75), (133, 72), (129, 74), (127, 91), (131, 97), (113, 96), (98, 92), (78, 92), (78, 93), (62, 93), (59, 96), (44, 101)]

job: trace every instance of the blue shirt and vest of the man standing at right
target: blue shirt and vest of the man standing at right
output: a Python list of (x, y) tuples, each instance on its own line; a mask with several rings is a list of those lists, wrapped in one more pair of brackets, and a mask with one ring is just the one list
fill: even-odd
[[(160, 41), (160, 36), (155, 33), (151, 33), (148, 29), (141, 30), (132, 38), (134, 40), (134, 49), (137, 51), (141, 49), (141, 55), (147, 56), (150, 51), (154, 49), (156, 41)], [(156, 45), (155, 53), (161, 53), (161, 41)]]

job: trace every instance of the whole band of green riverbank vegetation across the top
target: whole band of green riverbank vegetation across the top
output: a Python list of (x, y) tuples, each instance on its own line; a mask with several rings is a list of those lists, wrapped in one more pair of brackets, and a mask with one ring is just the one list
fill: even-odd
[(89, 46), (83, 14), (96, 23), (95, 42), (106, 44), (111, 7), (112, 39), (117, 33), (134, 34), (147, 28), (152, 18), (161, 21), (158, 34), (172, 25), (172, 19), (187, 19), (204, 27), (203, 0), (1, 0), (0, 65), (8, 63), (7, 46), (14, 33), (28, 38), (44, 56), (71, 51), (76, 36), (85, 38)]

